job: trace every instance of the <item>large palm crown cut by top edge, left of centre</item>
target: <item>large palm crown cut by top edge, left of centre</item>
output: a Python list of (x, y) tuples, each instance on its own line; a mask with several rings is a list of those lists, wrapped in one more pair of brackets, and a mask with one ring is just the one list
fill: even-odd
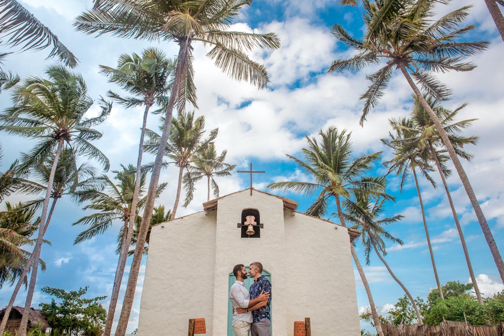
[[(228, 31), (240, 9), (251, 3), (251, 0), (104, 0), (78, 16), (74, 26), (86, 34), (109, 33), (122, 38), (175, 41), (184, 45), (180, 83), (192, 82), (191, 43), (202, 42), (211, 47), (207, 56), (230, 77), (265, 87), (268, 76), (264, 66), (252, 61), (245, 51), (256, 47), (276, 49), (280, 46), (279, 39), (273, 33)], [(186, 99), (186, 86), (178, 89), (179, 100)]]

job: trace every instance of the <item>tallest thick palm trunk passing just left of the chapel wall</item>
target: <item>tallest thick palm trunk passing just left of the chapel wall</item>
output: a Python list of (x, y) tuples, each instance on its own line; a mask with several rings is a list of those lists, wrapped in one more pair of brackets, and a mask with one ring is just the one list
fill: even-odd
[(149, 189), (147, 192), (147, 201), (144, 209), (144, 216), (142, 218), (142, 223), (140, 224), (140, 229), (138, 232), (137, 244), (135, 247), (135, 254), (133, 255), (133, 261), (131, 263), (130, 275), (128, 278), (128, 286), (126, 287), (126, 293), (124, 295), (123, 309), (121, 310), (121, 316), (119, 318), (119, 323), (115, 336), (124, 336), (126, 334), (126, 328), (128, 327), (128, 321), (130, 318), (131, 307), (133, 305), (133, 299), (135, 297), (135, 289), (138, 281), (138, 272), (140, 270), (140, 263), (142, 261), (142, 256), (144, 252), (145, 239), (147, 238), (147, 232), (149, 230), (150, 219), (152, 218), (152, 211), (154, 210), (154, 201), (156, 199), (156, 189), (157, 182), (159, 181), (159, 175), (161, 173), (161, 166), (163, 162), (164, 150), (166, 149), (166, 144), (170, 137), (170, 128), (172, 126), (172, 116), (173, 109), (175, 106), (175, 99), (177, 97), (178, 88), (180, 85), (180, 80), (184, 71), (184, 63), (186, 62), (186, 55), (190, 48), (189, 40), (179, 42), (179, 57), (177, 61), (177, 68), (175, 72), (175, 83), (172, 88), (172, 93), (170, 96), (170, 101), (166, 106), (166, 116), (164, 120), (163, 132), (160, 139), (159, 149), (157, 151), (156, 159), (154, 161), (154, 167), (152, 169), (152, 175), (150, 178)]

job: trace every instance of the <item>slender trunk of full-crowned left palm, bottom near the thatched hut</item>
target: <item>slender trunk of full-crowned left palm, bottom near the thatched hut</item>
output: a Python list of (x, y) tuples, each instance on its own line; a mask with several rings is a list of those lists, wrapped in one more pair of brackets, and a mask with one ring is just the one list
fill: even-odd
[[(60, 139), (60, 141), (58, 143), (58, 150), (56, 151), (56, 155), (54, 156), (54, 160), (52, 161), (52, 167), (51, 167), (51, 171), (49, 173), (49, 181), (47, 183), (47, 192), (46, 192), (44, 204), (42, 207), (42, 214), (40, 215), (40, 228), (38, 230), (37, 242), (36, 242), (35, 247), (33, 248), (33, 252), (32, 252), (33, 254), (35, 254), (35, 256), (33, 257), (32, 274), (30, 277), (30, 285), (28, 287), (28, 294), (26, 296), (25, 309), (24, 309), (25, 312), (30, 311), (31, 301), (33, 299), (33, 293), (35, 291), (35, 284), (37, 282), (37, 271), (38, 271), (38, 262), (40, 259), (40, 252), (42, 251), (42, 243), (44, 240), (44, 234), (45, 234), (45, 232), (47, 230), (47, 226), (48, 226), (48, 225), (46, 225), (46, 223), (47, 224), (49, 223), (48, 221), (46, 221), (47, 210), (49, 208), (49, 201), (50, 201), (50, 197), (51, 197), (52, 184), (54, 182), (54, 174), (56, 172), (56, 167), (58, 166), (58, 161), (60, 160), (61, 151), (63, 149), (63, 143), (64, 143), (64, 139)], [(25, 275), (27, 273), (27, 272), (25, 273), (25, 270), (27, 271), (27, 268), (29, 268), (29, 267), (25, 266), (25, 269), (23, 270), (23, 273)], [(20, 281), (22, 281), (23, 278), (24, 278), (24, 275), (22, 274)], [(7, 311), (6, 311), (6, 315), (7, 315)], [(9, 316), (9, 315), (7, 315), (7, 316)], [(26, 336), (26, 328), (28, 326), (28, 317), (29, 317), (29, 314), (23, 314), (23, 318), (21, 319), (21, 324), (19, 326), (18, 336)]]

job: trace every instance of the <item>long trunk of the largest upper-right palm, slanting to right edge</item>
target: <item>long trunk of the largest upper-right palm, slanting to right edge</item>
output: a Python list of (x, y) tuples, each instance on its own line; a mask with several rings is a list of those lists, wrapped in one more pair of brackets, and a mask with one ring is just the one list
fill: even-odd
[(446, 147), (446, 150), (448, 151), (448, 154), (450, 154), (450, 158), (452, 159), (452, 162), (455, 166), (455, 169), (457, 169), (457, 173), (459, 174), (459, 177), (462, 181), (462, 185), (466, 189), (466, 193), (469, 196), (469, 200), (471, 201), (471, 205), (473, 206), (474, 212), (476, 213), (476, 217), (478, 218), (479, 225), (481, 226), (481, 231), (483, 231), (483, 235), (485, 236), (486, 243), (488, 244), (488, 247), (490, 248), (490, 252), (492, 253), (493, 260), (495, 262), (495, 265), (497, 266), (497, 270), (500, 275), (500, 279), (504, 283), (504, 261), (502, 261), (502, 256), (500, 255), (497, 244), (495, 244), (495, 239), (493, 239), (493, 235), (492, 235), (492, 232), (490, 231), (490, 227), (488, 226), (488, 223), (486, 222), (485, 215), (483, 214), (483, 211), (481, 210), (481, 207), (479, 206), (478, 199), (476, 198), (476, 195), (474, 194), (474, 190), (471, 186), (471, 183), (469, 182), (469, 178), (467, 177), (467, 174), (464, 170), (464, 167), (462, 167), (462, 164), (459, 160), (459, 157), (457, 156), (457, 153), (455, 152), (455, 149), (453, 148), (453, 145), (450, 142), (450, 139), (448, 138), (446, 131), (444, 130), (443, 126), (441, 125), (441, 122), (439, 121), (439, 118), (437, 117), (436, 113), (434, 113), (434, 111), (432, 110), (430, 105), (427, 103), (427, 101), (423, 97), (422, 93), (415, 85), (415, 82), (413, 82), (413, 79), (406, 71), (404, 65), (400, 65), (399, 68), (401, 69), (401, 72), (403, 73), (404, 77), (406, 78), (406, 80), (410, 84), (411, 88), (415, 92), (415, 95), (417, 96), (418, 100), (420, 101), (422, 106), (425, 108), (427, 113), (429, 113), (429, 116), (432, 119), (432, 121), (434, 122), (436, 129), (439, 132), (439, 135), (443, 141), (443, 144)]

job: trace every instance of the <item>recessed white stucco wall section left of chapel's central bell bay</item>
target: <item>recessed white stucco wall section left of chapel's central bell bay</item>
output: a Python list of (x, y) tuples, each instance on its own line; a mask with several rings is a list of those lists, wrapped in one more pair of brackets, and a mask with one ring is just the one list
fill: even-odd
[(212, 330), (215, 212), (152, 228), (138, 336), (186, 335), (190, 318)]

